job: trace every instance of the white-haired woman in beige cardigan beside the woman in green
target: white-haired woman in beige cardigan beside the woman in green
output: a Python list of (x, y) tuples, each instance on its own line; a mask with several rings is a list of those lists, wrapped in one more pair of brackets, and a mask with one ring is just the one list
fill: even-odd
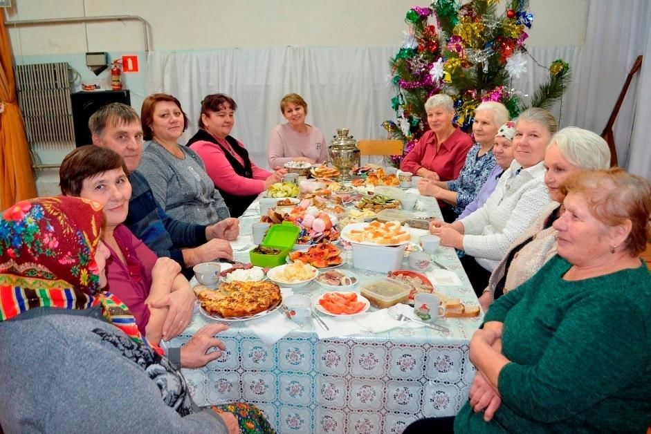
[(560, 217), (565, 196), (561, 185), (582, 169), (610, 167), (608, 144), (592, 131), (568, 126), (551, 138), (544, 155), (544, 183), (551, 196), (547, 211), (518, 238), (488, 279), (488, 287), (479, 297), (484, 310), (509, 290), (521, 285), (540, 270), (556, 254), (556, 229), (553, 223)]

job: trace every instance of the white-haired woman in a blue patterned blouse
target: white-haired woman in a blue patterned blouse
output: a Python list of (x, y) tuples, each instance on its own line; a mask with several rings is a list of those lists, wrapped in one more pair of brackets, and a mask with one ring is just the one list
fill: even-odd
[(495, 135), (497, 129), (508, 120), (508, 110), (504, 104), (494, 101), (482, 102), (475, 109), (473, 134), (475, 144), (466, 155), (464, 168), (459, 176), (451, 181), (436, 181), (423, 178), (418, 185), (424, 196), (434, 196), (452, 207), (441, 207), (443, 220), (452, 223), (457, 220), (466, 205), (472, 202), (479, 189), (488, 179), (488, 174), (495, 167)]

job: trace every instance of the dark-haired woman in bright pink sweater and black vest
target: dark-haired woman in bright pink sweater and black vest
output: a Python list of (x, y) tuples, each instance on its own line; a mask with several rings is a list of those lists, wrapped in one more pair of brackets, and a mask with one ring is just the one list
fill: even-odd
[(237, 104), (228, 95), (215, 93), (205, 97), (201, 102), (199, 132), (187, 145), (203, 159), (230, 215), (239, 217), (258, 194), (282, 180), (287, 171), (269, 172), (250, 160), (244, 144), (229, 135), (235, 125), (235, 110)]

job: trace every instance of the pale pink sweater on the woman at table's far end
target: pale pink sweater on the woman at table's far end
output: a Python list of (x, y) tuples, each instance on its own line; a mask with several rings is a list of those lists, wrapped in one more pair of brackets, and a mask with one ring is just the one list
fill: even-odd
[(307, 157), (322, 163), (328, 160), (328, 144), (323, 133), (310, 126), (307, 133), (299, 133), (289, 124), (277, 125), (269, 140), (269, 167), (283, 167), (295, 157)]

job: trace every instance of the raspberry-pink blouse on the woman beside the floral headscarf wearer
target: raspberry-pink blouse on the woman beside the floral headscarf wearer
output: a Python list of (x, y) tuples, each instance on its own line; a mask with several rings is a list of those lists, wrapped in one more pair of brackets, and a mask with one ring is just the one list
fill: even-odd
[(109, 291), (120, 297), (131, 310), (138, 330), (145, 336), (145, 326), (149, 322), (149, 308), (145, 305), (145, 299), (152, 287), (152, 269), (158, 256), (125, 225), (118, 225), (113, 236), (118, 241), (127, 264), (120, 261), (118, 254), (107, 244), (111, 252), (111, 257), (107, 260)]

